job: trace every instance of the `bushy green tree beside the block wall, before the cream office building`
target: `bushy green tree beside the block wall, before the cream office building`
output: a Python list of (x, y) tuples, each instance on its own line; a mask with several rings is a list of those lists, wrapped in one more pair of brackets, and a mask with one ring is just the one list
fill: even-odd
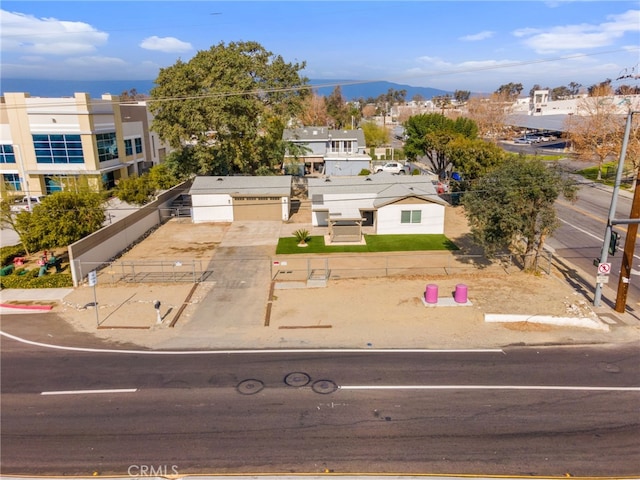
[(65, 247), (102, 228), (105, 206), (94, 192), (56, 192), (33, 211), (16, 216), (16, 232), (25, 249), (37, 251)]

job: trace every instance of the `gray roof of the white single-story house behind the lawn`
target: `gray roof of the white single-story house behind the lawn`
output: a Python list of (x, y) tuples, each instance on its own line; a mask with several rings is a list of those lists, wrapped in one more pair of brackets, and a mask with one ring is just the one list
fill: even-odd
[(324, 195), (327, 194), (371, 194), (368, 200), (373, 208), (407, 197), (448, 205), (438, 196), (432, 178), (427, 175), (401, 176), (383, 172), (357, 177), (309, 178), (308, 186), (314, 207), (324, 205)]

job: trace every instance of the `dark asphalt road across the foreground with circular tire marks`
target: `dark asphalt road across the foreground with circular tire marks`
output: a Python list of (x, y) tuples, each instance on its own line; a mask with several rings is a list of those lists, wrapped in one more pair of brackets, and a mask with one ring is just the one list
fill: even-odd
[[(99, 353), (2, 338), (3, 474), (640, 473), (640, 345)], [(101, 393), (99, 393), (101, 392)]]

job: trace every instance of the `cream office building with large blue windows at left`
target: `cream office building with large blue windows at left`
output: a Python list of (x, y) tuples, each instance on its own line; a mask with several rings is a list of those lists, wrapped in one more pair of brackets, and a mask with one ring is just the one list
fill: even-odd
[(78, 186), (113, 187), (160, 163), (167, 146), (150, 131), (144, 102), (118, 96), (0, 97), (0, 175), (3, 188), (47, 195)]

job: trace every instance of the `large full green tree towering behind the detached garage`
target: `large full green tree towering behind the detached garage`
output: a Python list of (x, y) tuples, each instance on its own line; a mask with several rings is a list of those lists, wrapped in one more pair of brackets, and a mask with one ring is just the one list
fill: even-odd
[(270, 155), (282, 137), (268, 123), (302, 111), (309, 95), (307, 79), (299, 75), (305, 66), (285, 63), (256, 42), (199, 51), (189, 62), (178, 60), (160, 70), (149, 101), (152, 128), (173, 148), (198, 147), (187, 157), (194, 160), (190, 167), (198, 166), (191, 173), (275, 168), (282, 159)]

